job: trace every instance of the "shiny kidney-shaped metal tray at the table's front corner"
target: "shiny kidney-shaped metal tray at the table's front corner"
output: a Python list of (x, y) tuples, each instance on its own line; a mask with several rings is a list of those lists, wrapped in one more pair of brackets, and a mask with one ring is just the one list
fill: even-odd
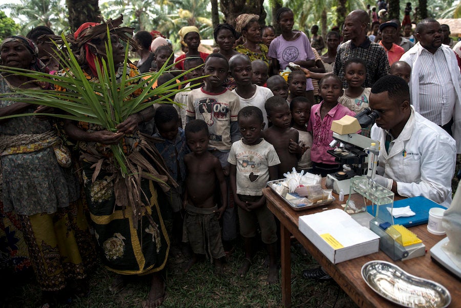
[(390, 262), (365, 263), (362, 277), (374, 292), (404, 307), (445, 308), (451, 302), (450, 292), (442, 284), (408, 274)]

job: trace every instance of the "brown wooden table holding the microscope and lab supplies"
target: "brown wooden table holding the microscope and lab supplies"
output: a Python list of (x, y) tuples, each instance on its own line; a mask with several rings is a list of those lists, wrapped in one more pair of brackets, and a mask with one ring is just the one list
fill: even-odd
[[(392, 302), (376, 294), (365, 283), (362, 278), (361, 269), (363, 264), (372, 260), (389, 261), (412, 275), (430, 279), (441, 283), (450, 291), (450, 307), (461, 307), (461, 282), (444, 268), (431, 260), (429, 249), (434, 244), (442, 240), (444, 236), (436, 236), (429, 233), (427, 225), (418, 225), (410, 230), (415, 233), (426, 245), (427, 253), (424, 257), (413, 258), (406, 261), (392, 261), (384, 252), (379, 251), (371, 255), (355, 258), (338, 264), (331, 263), (323, 253), (313, 245), (298, 228), (298, 218), (302, 215), (313, 214), (324, 211), (322, 207), (305, 211), (295, 211), (288, 206), (270, 188), (263, 189), (267, 198), (267, 207), (280, 220), (281, 233), (281, 262), (282, 262), (282, 304), (291, 307), (291, 268), (290, 268), (290, 235), (303, 245), (303, 247), (315, 258), (320, 265), (333, 277), (341, 288), (357, 303), (360, 307), (394, 307)], [(345, 197), (346, 200), (347, 196)], [(344, 203), (344, 202), (341, 202)], [(330, 204), (328, 210), (334, 208), (342, 209), (339, 201)]]

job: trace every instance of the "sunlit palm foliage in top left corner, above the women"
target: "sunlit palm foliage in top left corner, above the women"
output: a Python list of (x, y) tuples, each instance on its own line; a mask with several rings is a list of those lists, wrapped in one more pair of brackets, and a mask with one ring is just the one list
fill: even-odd
[(11, 17), (24, 20), (20, 27), (23, 35), (37, 26), (47, 26), (57, 33), (69, 28), (67, 11), (62, 10), (59, 0), (20, 0), (18, 3), (4, 4), (0, 9), (9, 9)]

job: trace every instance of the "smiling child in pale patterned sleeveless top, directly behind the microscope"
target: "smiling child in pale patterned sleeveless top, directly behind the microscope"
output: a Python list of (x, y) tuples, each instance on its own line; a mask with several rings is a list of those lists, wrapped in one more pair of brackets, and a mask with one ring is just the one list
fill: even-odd
[(361, 58), (350, 58), (344, 64), (344, 79), (348, 87), (338, 99), (341, 105), (359, 113), (368, 107), (368, 97), (371, 88), (364, 88), (363, 83), (367, 76), (367, 64)]

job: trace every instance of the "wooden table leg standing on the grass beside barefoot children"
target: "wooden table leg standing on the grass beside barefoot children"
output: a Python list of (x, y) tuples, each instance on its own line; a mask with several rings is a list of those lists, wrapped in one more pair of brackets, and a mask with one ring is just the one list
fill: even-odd
[(281, 261), (282, 261), (282, 304), (291, 307), (291, 241), (290, 232), (280, 224)]

